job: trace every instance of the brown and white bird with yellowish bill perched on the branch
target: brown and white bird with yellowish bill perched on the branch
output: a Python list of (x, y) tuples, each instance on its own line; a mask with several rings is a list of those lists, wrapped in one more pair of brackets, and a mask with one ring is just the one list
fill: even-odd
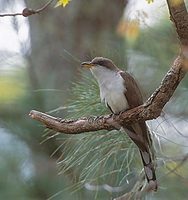
[[(81, 66), (90, 69), (98, 82), (100, 99), (114, 114), (142, 105), (143, 97), (140, 88), (128, 72), (119, 69), (112, 60), (95, 57), (91, 61), (82, 62)], [(137, 145), (143, 162), (144, 172), (150, 189), (157, 191), (154, 153), (152, 140), (145, 121), (139, 121), (122, 128)]]

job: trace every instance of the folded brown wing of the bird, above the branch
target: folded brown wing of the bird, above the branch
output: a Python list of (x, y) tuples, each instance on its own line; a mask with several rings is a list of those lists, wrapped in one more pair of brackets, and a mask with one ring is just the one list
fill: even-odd
[(127, 72), (120, 72), (120, 75), (125, 81), (126, 91), (125, 96), (129, 104), (129, 108), (134, 108), (143, 104), (142, 94), (134, 80), (134, 78)]

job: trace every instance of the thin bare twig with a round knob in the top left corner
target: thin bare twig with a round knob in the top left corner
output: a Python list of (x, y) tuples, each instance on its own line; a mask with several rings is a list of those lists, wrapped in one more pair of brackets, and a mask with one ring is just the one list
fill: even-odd
[(22, 15), (24, 17), (28, 17), (30, 15), (34, 15), (34, 14), (39, 14), (42, 11), (44, 11), (54, 0), (50, 0), (48, 1), (44, 6), (42, 6), (41, 8), (37, 9), (37, 10), (33, 10), (30, 8), (24, 8), (23, 11), (21, 13), (6, 13), (6, 14), (0, 14), (0, 17), (15, 17), (15, 16), (19, 16)]

